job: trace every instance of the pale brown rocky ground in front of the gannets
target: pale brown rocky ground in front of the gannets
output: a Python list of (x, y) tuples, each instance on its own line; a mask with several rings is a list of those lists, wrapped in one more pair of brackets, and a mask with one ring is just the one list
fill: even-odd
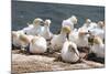
[[(54, 54), (24, 54), (20, 50), (12, 50), (12, 73), (34, 73), (46, 71), (67, 71), (105, 67), (103, 63), (88, 61), (80, 63), (65, 63), (58, 61), (59, 53)], [(80, 53), (85, 56), (85, 53)]]

